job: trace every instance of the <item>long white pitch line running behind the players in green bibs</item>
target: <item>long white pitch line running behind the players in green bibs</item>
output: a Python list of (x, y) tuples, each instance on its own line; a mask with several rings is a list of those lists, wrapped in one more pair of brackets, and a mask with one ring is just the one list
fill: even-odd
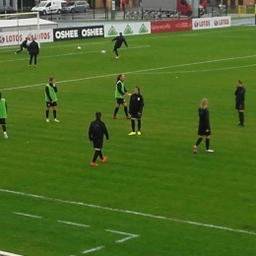
[[(226, 58), (226, 59), (207, 60), (207, 61), (185, 63), (185, 64), (179, 64), (179, 65), (163, 66), (163, 67), (159, 67), (159, 68), (128, 71), (128, 72), (124, 72), (123, 74), (136, 74), (136, 73), (142, 73), (143, 74), (145, 72), (153, 72), (153, 71), (159, 71), (159, 70), (169, 69), (169, 68), (186, 67), (186, 66), (201, 65), (201, 64), (207, 64), (207, 63), (215, 63), (215, 62), (237, 60), (237, 59), (254, 58), (254, 57), (256, 57), (256, 55), (247, 55), (247, 56), (232, 57), (232, 58)], [(79, 79), (64, 80), (64, 81), (58, 81), (58, 84), (85, 81), (85, 80), (92, 80), (92, 79), (98, 79), (98, 78), (106, 78), (106, 77), (112, 77), (112, 76), (116, 76), (116, 75), (118, 75), (118, 74), (113, 73), (113, 74), (101, 75), (101, 76), (95, 76), (95, 77), (86, 77), (86, 78), (79, 78)], [(45, 83), (37, 84), (37, 85), (30, 85), (30, 86), (23, 86), (23, 87), (5, 88), (5, 89), (1, 89), (1, 91), (12, 91), (12, 90), (26, 89), (26, 88), (39, 87), (39, 86), (45, 86)]]

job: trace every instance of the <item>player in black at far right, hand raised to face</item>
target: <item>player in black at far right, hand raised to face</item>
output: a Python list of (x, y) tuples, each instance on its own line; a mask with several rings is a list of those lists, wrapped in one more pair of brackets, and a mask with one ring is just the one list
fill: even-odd
[(235, 95), (235, 109), (237, 109), (238, 117), (239, 117), (239, 123), (237, 125), (241, 127), (243, 127), (243, 123), (244, 123), (245, 93), (246, 93), (246, 90), (243, 87), (242, 82), (238, 80), (234, 95)]

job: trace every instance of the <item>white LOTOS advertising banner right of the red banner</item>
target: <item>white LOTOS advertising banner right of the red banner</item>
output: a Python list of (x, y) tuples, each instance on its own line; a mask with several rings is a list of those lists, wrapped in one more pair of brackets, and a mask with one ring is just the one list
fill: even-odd
[(220, 29), (231, 26), (230, 16), (193, 19), (192, 30)]

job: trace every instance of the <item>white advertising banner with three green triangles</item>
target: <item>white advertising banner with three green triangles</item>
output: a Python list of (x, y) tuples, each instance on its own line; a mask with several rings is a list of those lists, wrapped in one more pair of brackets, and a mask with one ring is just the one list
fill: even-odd
[(122, 32), (123, 35), (151, 33), (151, 23), (123, 23), (104, 25), (104, 37), (116, 36)]

